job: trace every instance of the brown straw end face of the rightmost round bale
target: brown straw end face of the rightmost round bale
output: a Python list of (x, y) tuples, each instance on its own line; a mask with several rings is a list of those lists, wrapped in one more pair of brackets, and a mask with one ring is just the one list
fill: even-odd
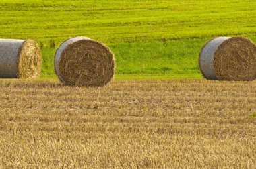
[(255, 44), (242, 36), (225, 40), (214, 53), (214, 68), (219, 80), (255, 80)]

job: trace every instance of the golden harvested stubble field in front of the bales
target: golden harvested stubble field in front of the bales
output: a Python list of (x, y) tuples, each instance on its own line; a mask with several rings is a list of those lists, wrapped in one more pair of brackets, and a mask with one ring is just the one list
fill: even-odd
[(256, 82), (0, 80), (0, 168), (253, 168)]

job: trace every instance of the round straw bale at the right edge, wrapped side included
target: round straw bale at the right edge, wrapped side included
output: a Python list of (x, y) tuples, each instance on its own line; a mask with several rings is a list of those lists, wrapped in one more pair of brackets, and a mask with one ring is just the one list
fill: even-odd
[(243, 36), (214, 38), (201, 49), (199, 67), (208, 80), (255, 80), (256, 46)]

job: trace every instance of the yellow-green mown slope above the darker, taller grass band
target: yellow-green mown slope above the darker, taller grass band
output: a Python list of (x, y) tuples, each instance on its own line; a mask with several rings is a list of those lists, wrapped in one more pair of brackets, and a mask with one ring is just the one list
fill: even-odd
[(69, 36), (106, 44), (160, 38), (254, 35), (255, 1), (2, 0), (0, 38), (32, 38), (48, 45)]

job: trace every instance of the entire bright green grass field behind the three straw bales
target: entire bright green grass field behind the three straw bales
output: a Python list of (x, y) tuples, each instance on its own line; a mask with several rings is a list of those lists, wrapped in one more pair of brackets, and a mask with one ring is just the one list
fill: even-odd
[(51, 77), (55, 48), (71, 36), (110, 46), (117, 78), (200, 77), (205, 41), (247, 36), (256, 42), (256, 1), (1, 0), (0, 38), (32, 38), (42, 46), (42, 76)]

